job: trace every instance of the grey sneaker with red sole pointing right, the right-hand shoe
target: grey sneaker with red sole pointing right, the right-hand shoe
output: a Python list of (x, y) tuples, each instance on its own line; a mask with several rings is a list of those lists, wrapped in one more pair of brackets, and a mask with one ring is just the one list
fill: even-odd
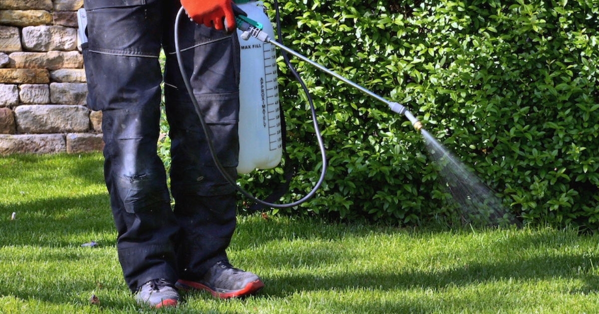
[(177, 288), (209, 291), (215, 298), (235, 298), (254, 294), (264, 287), (258, 276), (233, 268), (228, 261), (219, 261), (199, 282), (179, 279)]

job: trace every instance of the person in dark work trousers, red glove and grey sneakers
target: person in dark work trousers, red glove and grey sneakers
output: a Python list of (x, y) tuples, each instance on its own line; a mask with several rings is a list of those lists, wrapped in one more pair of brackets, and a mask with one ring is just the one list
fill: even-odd
[[(220, 162), (233, 177), (238, 161), (240, 47), (231, 0), (84, 0), (82, 45), (88, 106), (102, 111), (104, 177), (116, 224), (117, 252), (135, 299), (176, 306), (178, 289), (220, 298), (264, 286), (229, 264), (235, 230), (234, 188), (216, 168), (184, 88), (174, 54), (174, 20), (187, 15), (179, 42), (187, 80), (211, 131)], [(225, 25), (226, 23), (226, 25)], [(171, 138), (171, 209), (157, 156), (162, 72)]]

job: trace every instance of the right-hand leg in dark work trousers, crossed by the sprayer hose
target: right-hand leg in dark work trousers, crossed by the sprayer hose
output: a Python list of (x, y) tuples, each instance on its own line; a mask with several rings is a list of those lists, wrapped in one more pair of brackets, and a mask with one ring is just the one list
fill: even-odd
[[(174, 8), (171, 18), (176, 13)], [(181, 225), (177, 254), (180, 277), (199, 279), (226, 260), (235, 230), (233, 187), (214, 165), (207, 140), (174, 54), (173, 32), (165, 34), (165, 100), (171, 138), (171, 191)], [(239, 144), (239, 48), (237, 38), (181, 19), (183, 63), (202, 107), (214, 148), (229, 175), (237, 176)]]

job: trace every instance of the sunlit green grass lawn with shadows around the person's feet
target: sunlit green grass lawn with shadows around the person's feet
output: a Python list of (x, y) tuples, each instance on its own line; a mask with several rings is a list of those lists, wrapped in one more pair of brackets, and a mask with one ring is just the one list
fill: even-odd
[(229, 248), (264, 279), (258, 295), (188, 292), (177, 309), (147, 309), (123, 281), (102, 178), (101, 154), (0, 157), (0, 313), (599, 312), (598, 236), (276, 215), (240, 217)]

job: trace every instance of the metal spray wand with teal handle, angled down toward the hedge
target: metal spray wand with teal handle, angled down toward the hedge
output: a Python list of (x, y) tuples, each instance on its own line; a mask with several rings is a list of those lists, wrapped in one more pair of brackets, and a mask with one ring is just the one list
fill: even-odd
[[(235, 10), (237, 11), (238, 9), (235, 9)], [(392, 111), (397, 112), (398, 114), (406, 115), (406, 118), (408, 118), (408, 120), (410, 120), (410, 122), (412, 123), (412, 125), (414, 126), (414, 128), (416, 130), (419, 131), (420, 129), (422, 129), (422, 123), (420, 123), (420, 121), (416, 117), (414, 117), (412, 112), (410, 112), (408, 109), (406, 109), (406, 106), (401, 105), (400, 103), (397, 103), (397, 102), (391, 102), (389, 100), (386, 100), (385, 98), (371, 92), (370, 90), (365, 89), (364, 87), (359, 86), (358, 84), (353, 83), (350, 80), (347, 80), (347, 78), (344, 78), (341, 75), (325, 68), (324, 66), (320, 65), (319, 63), (316, 63), (316, 62), (308, 59), (307, 57), (302, 56), (302, 54), (299, 54), (297, 51), (294, 51), (291, 48), (286, 47), (285, 45), (281, 44), (280, 42), (270, 38), (268, 33), (262, 31), (262, 25), (260, 23), (255, 22), (254, 20), (249, 19), (248, 17), (243, 16), (242, 14), (238, 14), (235, 17), (235, 22), (237, 22), (237, 28), (243, 32), (241, 34), (242, 39), (247, 40), (250, 37), (253, 37), (253, 38), (258, 39), (261, 42), (270, 43), (270, 44), (275, 45), (276, 47), (279, 47), (281, 50), (291, 53), (294, 56), (298, 57), (299, 59), (302, 59), (305, 62), (309, 63), (310, 65), (314, 66), (315, 68), (320, 69), (320, 71), (323, 71), (326, 74), (329, 74), (332, 77), (337, 78), (338, 80), (342, 81), (343, 83), (346, 83), (349, 86), (352, 86), (353, 88), (361, 91), (362, 93), (365, 93), (368, 96), (373, 97), (374, 99), (385, 103), (386, 105), (389, 106), (389, 108), (391, 108)]]

